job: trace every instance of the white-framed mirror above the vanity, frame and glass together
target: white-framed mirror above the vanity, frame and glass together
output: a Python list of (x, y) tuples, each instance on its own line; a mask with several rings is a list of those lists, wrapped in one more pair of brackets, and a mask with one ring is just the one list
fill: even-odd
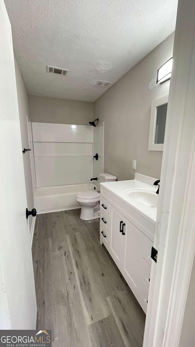
[(150, 116), (149, 151), (163, 151), (168, 95), (152, 101)]

